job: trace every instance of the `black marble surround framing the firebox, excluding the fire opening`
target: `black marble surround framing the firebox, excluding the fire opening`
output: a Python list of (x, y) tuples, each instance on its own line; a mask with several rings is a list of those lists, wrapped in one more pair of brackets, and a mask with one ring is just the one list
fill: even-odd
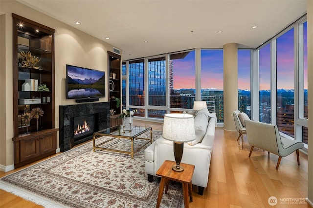
[(89, 135), (74, 142), (74, 117), (94, 114), (96, 118), (94, 122), (94, 131), (110, 127), (109, 102), (60, 105), (59, 113), (59, 143), (60, 151), (62, 152), (68, 151), (74, 147), (74, 145), (88, 141), (92, 138), (92, 135)]

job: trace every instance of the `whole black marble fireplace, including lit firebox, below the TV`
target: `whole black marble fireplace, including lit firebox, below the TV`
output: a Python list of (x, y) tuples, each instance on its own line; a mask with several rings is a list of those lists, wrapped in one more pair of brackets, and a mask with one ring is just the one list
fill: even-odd
[(109, 128), (109, 111), (109, 102), (59, 106), (60, 151), (68, 151), (92, 139), (93, 132)]

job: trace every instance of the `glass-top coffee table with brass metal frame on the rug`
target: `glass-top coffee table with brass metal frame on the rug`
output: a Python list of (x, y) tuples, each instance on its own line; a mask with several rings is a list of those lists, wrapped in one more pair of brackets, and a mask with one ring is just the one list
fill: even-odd
[[(144, 132), (148, 132), (148, 131), (150, 131), (150, 138), (139, 137)], [(108, 139), (105, 139), (105, 141), (96, 145), (96, 140), (102, 138), (103, 136), (107, 136)], [(109, 147), (101, 147), (104, 144), (111, 142), (114, 139), (130, 139), (131, 140), (131, 151), (123, 151), (123, 150), (111, 149)], [(140, 144), (140, 146), (137, 147), (136, 150), (134, 150), (134, 140), (135, 139), (146, 140), (146, 142), (144, 142), (143, 144)], [(111, 128), (107, 128), (107, 129), (93, 133), (93, 151), (106, 150), (106, 151), (121, 152), (121, 153), (125, 153), (125, 154), (130, 154), (132, 156), (132, 159), (134, 158), (134, 153), (139, 151), (141, 148), (143, 148), (149, 142), (152, 144), (152, 128), (151, 127), (134, 126), (132, 131), (128, 131), (128, 130), (123, 131), (123, 126), (118, 125), (118, 126), (113, 126)]]

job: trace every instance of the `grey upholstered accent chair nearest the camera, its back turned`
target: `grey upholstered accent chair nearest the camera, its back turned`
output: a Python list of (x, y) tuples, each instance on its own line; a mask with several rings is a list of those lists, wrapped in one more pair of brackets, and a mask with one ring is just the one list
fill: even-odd
[(279, 156), (276, 165), (276, 170), (278, 170), (282, 157), (296, 151), (297, 162), (300, 165), (299, 149), (303, 148), (303, 143), (281, 137), (276, 125), (246, 120), (246, 135), (251, 145), (249, 157), (254, 147), (276, 154)]

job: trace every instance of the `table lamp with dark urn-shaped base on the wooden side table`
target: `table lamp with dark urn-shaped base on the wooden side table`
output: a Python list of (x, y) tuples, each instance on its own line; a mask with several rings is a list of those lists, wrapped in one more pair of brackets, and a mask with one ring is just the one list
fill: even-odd
[(176, 165), (172, 167), (175, 171), (183, 171), (180, 166), (184, 142), (196, 139), (194, 128), (194, 116), (185, 113), (168, 113), (164, 115), (163, 138), (173, 141), (174, 157)]

